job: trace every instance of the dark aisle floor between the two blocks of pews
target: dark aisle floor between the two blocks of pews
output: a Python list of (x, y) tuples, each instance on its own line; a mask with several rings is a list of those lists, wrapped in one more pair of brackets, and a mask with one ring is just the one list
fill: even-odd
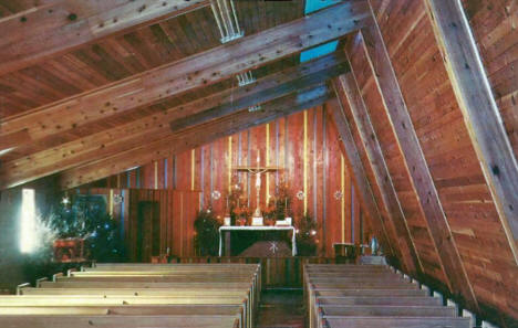
[(302, 290), (265, 290), (257, 328), (304, 328)]

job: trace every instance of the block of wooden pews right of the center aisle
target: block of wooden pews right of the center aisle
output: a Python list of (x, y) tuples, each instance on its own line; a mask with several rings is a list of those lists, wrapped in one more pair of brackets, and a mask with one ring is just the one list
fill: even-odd
[(455, 307), (385, 265), (308, 264), (303, 278), (311, 328), (469, 328)]

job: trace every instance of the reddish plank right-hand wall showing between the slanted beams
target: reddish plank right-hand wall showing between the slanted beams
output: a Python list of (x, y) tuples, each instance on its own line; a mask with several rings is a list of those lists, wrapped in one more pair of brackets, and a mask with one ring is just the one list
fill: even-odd
[[(515, 151), (518, 33), (514, 1), (465, 1)], [(486, 184), (423, 0), (371, 0), (463, 265), (478, 301), (518, 317), (518, 267)], [(507, 7), (506, 7), (507, 4)], [(353, 47), (356, 46), (353, 42)], [(425, 271), (444, 281), (372, 71), (359, 80)]]

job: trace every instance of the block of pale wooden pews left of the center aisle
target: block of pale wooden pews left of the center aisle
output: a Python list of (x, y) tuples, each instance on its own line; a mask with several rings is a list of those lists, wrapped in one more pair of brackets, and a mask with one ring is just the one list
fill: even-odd
[(259, 265), (155, 266), (92, 267), (21, 287), (0, 296), (0, 327), (252, 327)]

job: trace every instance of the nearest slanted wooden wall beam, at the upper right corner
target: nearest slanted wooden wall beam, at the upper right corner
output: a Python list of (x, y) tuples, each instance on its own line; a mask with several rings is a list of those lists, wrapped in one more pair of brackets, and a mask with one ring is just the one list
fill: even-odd
[(435, 39), (518, 264), (518, 163), (458, 0), (426, 0)]

